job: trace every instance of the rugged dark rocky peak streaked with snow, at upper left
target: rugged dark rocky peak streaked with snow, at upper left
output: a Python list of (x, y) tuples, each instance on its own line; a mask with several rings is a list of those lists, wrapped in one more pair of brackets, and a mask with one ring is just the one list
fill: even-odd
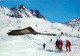
[(7, 8), (1, 6), (0, 12), (14, 18), (36, 17), (47, 20), (44, 16), (40, 14), (38, 10), (28, 9), (24, 5), (20, 5), (18, 7), (13, 7), (13, 8)]

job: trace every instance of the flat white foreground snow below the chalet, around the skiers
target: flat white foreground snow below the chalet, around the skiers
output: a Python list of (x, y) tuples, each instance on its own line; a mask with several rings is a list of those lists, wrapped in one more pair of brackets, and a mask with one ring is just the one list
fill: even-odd
[[(31, 38), (30, 38), (30, 37)], [(6, 41), (0, 41), (0, 56), (79, 56), (80, 55), (80, 38), (62, 36), (61, 39), (69, 39), (72, 43), (71, 52), (66, 52), (66, 48), (63, 45), (63, 51), (55, 49), (55, 41), (57, 37), (45, 36), (45, 35), (24, 35), (14, 36), (9, 40), (6, 37)], [(50, 42), (53, 39), (53, 42)], [(4, 39), (3, 39), (4, 40)], [(42, 44), (46, 43), (46, 49), (43, 50)]]

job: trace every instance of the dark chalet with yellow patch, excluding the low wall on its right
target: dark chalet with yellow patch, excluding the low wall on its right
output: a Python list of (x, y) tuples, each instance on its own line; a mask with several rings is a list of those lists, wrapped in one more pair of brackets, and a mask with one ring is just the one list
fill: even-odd
[(7, 33), (8, 35), (24, 35), (24, 34), (37, 34), (37, 32), (31, 27), (19, 30), (11, 30), (11, 32)]

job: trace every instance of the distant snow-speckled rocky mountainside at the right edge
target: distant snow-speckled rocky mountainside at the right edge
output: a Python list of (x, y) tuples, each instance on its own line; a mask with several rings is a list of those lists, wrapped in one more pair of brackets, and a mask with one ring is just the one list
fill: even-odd
[(80, 18), (70, 20), (68, 22), (65, 22), (64, 24), (77, 29), (78, 31), (80, 30)]

